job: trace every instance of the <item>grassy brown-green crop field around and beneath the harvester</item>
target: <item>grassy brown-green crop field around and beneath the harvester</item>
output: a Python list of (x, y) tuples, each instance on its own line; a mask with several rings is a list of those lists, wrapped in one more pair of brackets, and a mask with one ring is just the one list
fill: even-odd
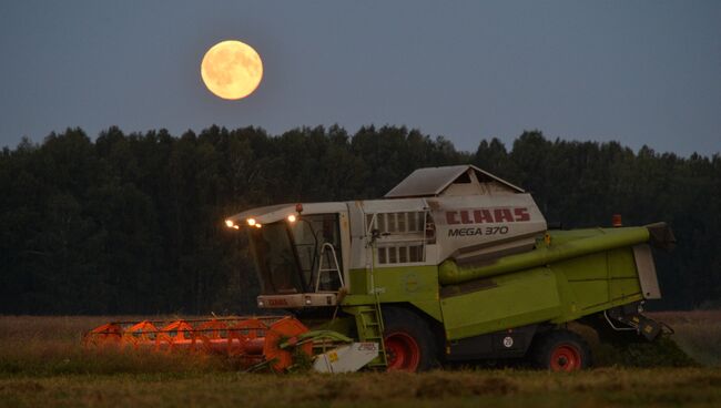
[(273, 375), (219, 358), (84, 350), (81, 333), (106, 317), (4, 316), (0, 407), (721, 406), (721, 312), (654, 317), (674, 327), (676, 343), (618, 350), (590, 338), (599, 367), (571, 375), (483, 366)]

